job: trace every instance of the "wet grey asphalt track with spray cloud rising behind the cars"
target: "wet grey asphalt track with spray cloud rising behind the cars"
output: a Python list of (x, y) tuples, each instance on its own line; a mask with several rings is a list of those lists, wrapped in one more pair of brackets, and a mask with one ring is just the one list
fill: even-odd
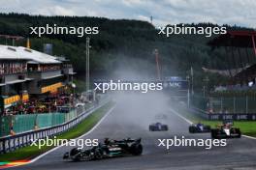
[[(172, 103), (161, 96), (143, 95), (116, 98), (116, 107), (102, 123), (85, 139), (105, 137), (122, 139), (142, 137), (143, 156), (122, 156), (97, 161), (72, 162), (62, 159), (72, 147), (61, 147), (47, 156), (24, 166), (12, 169), (23, 170), (158, 170), (158, 169), (256, 169), (256, 140), (248, 138), (229, 139), (226, 147), (158, 147), (158, 139), (181, 138), (208, 139), (208, 133), (189, 134), (189, 124), (170, 111)], [(165, 114), (167, 119), (157, 120), (155, 115)], [(168, 124), (169, 131), (148, 131), (148, 125), (154, 122)]]

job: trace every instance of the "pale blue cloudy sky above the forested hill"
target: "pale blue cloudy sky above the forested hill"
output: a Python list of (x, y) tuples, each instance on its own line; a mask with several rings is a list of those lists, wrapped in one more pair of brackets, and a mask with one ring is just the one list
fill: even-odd
[(213, 22), (256, 28), (256, 0), (0, 0), (1, 13), (87, 15), (168, 23)]

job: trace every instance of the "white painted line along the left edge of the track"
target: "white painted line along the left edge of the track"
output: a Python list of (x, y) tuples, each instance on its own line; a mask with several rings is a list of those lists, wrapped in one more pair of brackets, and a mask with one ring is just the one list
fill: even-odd
[[(99, 127), (99, 125), (107, 118), (107, 116), (109, 116), (111, 113), (112, 113), (112, 110), (115, 108), (116, 104), (114, 104), (112, 106), (112, 108), (104, 115), (104, 117), (93, 127), (91, 128), (89, 131), (87, 131), (86, 133), (82, 134), (81, 136), (79, 136), (78, 138), (76, 139), (79, 139), (81, 137), (84, 137), (85, 135), (88, 135), (89, 133), (91, 133), (95, 128)], [(97, 110), (97, 109), (96, 109)], [(96, 110), (93, 110), (93, 111), (96, 111)], [(75, 139), (75, 140), (76, 140)], [(52, 148), (51, 150), (49, 150), (48, 152), (40, 155), (40, 156), (37, 156), (35, 158), (33, 158), (32, 160), (30, 160), (29, 162), (25, 163), (25, 164), (22, 164), (22, 165), (27, 165), (27, 164), (30, 164), (30, 163), (33, 163), (35, 161), (37, 161), (38, 159), (44, 157), (44, 156), (47, 156), (49, 153), (52, 153), (53, 151), (63, 147), (64, 145), (60, 145), (60, 146), (57, 146), (55, 148)], [(11, 167), (7, 167), (7, 168), (12, 168), (12, 167), (17, 167), (17, 166), (22, 166), (22, 165), (16, 165), (16, 166), (11, 166)], [(1, 169), (1, 168), (0, 168)], [(3, 169), (6, 169), (6, 168), (3, 168)]]

